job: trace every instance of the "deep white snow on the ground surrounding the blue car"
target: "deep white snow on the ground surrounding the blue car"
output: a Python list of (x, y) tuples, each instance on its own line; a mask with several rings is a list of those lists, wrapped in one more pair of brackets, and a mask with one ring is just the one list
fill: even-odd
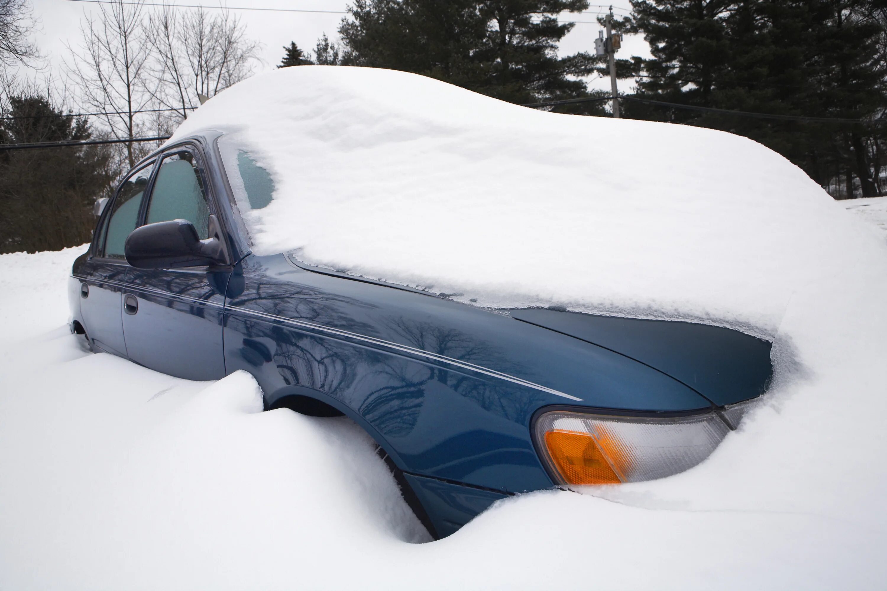
[(833, 351), (840, 375), (806, 369), (697, 469), (524, 495), (412, 544), (415, 521), (347, 421), (259, 413), (243, 375), (194, 383), (85, 353), (64, 327), (80, 252), (0, 256), (0, 588), (883, 584), (883, 290), (823, 310), (871, 355)]

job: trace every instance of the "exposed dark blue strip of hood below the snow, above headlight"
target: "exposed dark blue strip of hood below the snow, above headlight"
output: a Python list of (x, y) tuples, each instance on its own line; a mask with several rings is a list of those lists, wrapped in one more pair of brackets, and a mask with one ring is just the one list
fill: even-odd
[(511, 310), (510, 314), (658, 369), (717, 406), (764, 393), (773, 375), (773, 344), (738, 330), (546, 308)]

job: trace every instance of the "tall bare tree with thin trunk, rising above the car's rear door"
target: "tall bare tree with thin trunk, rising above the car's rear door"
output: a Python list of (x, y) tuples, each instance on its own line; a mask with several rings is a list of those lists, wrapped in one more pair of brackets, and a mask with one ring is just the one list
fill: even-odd
[[(141, 0), (112, 0), (98, 4), (98, 17), (81, 24), (79, 51), (68, 46), (67, 74), (80, 93), (81, 105), (102, 115), (117, 139), (137, 136), (143, 127), (138, 113), (149, 107), (154, 89), (147, 76), (152, 44), (147, 41)], [(130, 167), (137, 148), (126, 145)]]

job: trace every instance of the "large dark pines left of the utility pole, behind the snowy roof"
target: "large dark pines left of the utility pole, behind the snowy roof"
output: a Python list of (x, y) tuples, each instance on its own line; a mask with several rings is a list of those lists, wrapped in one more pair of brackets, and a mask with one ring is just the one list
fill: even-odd
[(428, 75), (515, 103), (585, 96), (594, 59), (557, 56), (586, 0), (356, 0), (342, 62)]

